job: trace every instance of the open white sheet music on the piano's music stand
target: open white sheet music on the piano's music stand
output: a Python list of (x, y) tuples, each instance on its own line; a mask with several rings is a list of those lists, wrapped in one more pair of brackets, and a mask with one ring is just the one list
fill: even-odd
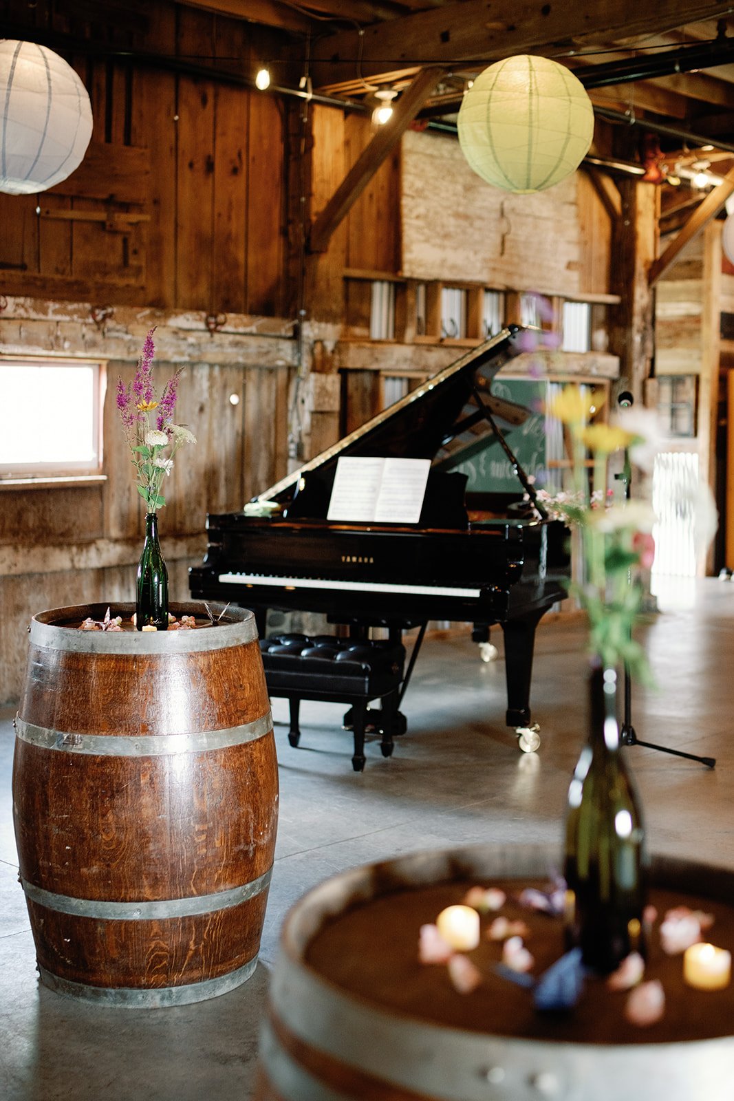
[(340, 456), (327, 520), (417, 524), (430, 459)]

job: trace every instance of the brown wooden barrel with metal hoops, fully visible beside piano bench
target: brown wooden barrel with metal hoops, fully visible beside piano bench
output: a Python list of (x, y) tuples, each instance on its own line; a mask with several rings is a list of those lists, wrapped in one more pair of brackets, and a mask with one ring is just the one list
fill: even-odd
[(78, 630), (106, 607), (30, 626), (12, 783), (41, 979), (109, 1005), (213, 998), (255, 968), (275, 847), (254, 617), (183, 603), (194, 630)]

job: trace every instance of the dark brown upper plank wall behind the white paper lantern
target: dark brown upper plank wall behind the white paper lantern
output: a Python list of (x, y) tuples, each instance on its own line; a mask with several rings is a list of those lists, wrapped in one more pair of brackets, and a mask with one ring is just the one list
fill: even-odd
[[(19, 7), (0, 2), (0, 15), (18, 17)], [(273, 35), (165, 0), (132, 4), (127, 22), (121, 11), (107, 28), (95, 24), (94, 6), (86, 21), (65, 7), (37, 0), (24, 18), (46, 34), (73, 34), (76, 48), (58, 52), (89, 91), (92, 142), (56, 187), (0, 195), (3, 293), (291, 313), (283, 102), (227, 79), (253, 75), (276, 48)], [(96, 52), (131, 46), (134, 59)], [(194, 64), (221, 78), (189, 75)]]

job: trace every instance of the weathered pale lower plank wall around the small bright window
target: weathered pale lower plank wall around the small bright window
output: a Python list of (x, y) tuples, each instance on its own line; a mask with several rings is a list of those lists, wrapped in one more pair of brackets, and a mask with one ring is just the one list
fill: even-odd
[[(241, 509), (287, 467), (292, 327), (229, 315), (210, 335), (201, 314), (117, 307), (96, 325), (87, 306), (10, 298), (0, 313), (0, 351), (62, 352), (109, 360), (105, 399), (106, 480), (53, 487), (0, 481), (0, 701), (18, 698), (25, 669), (25, 629), (46, 608), (134, 600), (143, 512), (114, 405), (118, 377), (132, 379), (145, 333), (154, 334), (161, 388), (185, 364), (176, 419), (197, 444), (184, 448), (166, 480), (161, 510), (171, 599), (187, 600), (188, 567), (206, 549), (207, 512)], [(2, 367), (0, 362), (0, 373)], [(239, 397), (238, 404), (230, 395)], [(28, 415), (32, 430), (32, 411)]]

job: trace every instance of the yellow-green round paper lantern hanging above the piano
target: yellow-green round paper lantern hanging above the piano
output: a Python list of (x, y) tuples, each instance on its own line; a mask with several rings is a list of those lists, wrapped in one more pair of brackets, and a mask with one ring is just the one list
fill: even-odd
[(547, 57), (490, 65), (459, 110), (459, 143), (487, 184), (527, 194), (569, 176), (591, 145), (594, 111), (581, 81)]

